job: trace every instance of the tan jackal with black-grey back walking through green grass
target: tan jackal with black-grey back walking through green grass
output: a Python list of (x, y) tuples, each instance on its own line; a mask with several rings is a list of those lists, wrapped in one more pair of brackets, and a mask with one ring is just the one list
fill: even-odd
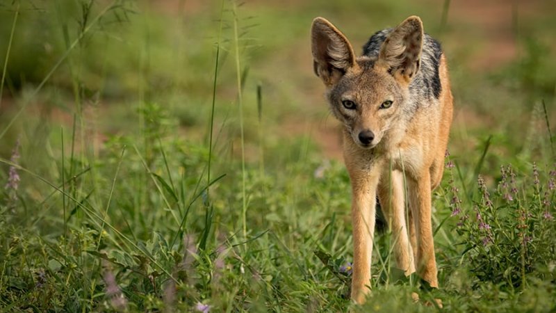
[(363, 303), (370, 290), (377, 197), (395, 239), (396, 266), (437, 288), (431, 191), (442, 179), (453, 111), (439, 42), (412, 16), (375, 33), (356, 57), (345, 35), (317, 17), (311, 51), (332, 114), (343, 123), (352, 186), (352, 299)]

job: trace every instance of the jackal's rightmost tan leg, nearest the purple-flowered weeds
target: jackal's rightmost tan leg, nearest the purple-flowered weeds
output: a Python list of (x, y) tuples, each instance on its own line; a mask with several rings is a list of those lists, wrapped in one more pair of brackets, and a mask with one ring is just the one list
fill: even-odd
[(417, 241), (417, 272), (431, 287), (438, 288), (432, 238), (431, 182), (428, 171), (416, 181), (411, 182), (410, 179), (409, 194)]

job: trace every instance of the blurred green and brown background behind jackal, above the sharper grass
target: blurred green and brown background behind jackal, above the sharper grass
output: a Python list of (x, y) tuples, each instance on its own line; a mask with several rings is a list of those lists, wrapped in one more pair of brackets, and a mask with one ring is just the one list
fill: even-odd
[(542, 102), (555, 124), (555, 12), (550, 0), (245, 1), (237, 15), (228, 1), (4, 1), (0, 154), (9, 157), (18, 136), (35, 141), (51, 127), (71, 129), (74, 116), (86, 121), (77, 123), (87, 128), (82, 139), (99, 150), (136, 131), (145, 104), (165, 111), (183, 138), (206, 140), (221, 19), (215, 127), (227, 123), (224, 136), (234, 141), (236, 16), (247, 151), (259, 86), (268, 145), (308, 135), (325, 157), (341, 158), (338, 125), (312, 72), (311, 20), (329, 19), (359, 53), (375, 31), (409, 15), (423, 19), (448, 56), (456, 108), (450, 150), (473, 149), (493, 134), (507, 143), (500, 153), (533, 151), (546, 135)]

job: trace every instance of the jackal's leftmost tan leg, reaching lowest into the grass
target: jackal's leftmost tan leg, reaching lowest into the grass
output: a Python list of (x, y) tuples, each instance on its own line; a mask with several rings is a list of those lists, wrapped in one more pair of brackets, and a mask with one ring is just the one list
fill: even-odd
[(375, 232), (376, 187), (379, 175), (348, 168), (352, 182), (352, 300), (363, 303), (370, 291), (370, 257)]

